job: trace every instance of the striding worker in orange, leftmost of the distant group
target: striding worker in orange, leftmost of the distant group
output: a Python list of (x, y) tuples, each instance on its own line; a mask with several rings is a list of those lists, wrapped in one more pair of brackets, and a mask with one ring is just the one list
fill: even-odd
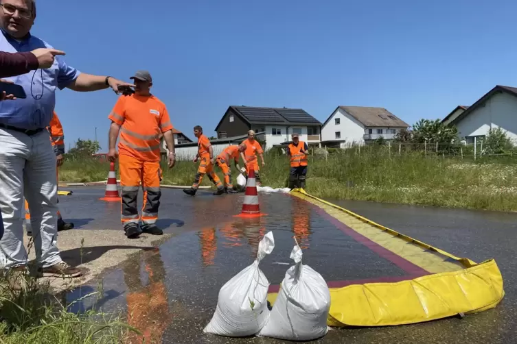
[(194, 164), (198, 162), (199, 159), (201, 159), (201, 162), (198, 167), (198, 173), (196, 173), (194, 184), (192, 184), (192, 188), (185, 188), (183, 189), (183, 192), (191, 196), (196, 195), (199, 185), (203, 180), (203, 176), (207, 174), (208, 179), (217, 187), (217, 191), (214, 195), (222, 195), (225, 193), (225, 188), (222, 186), (219, 177), (214, 173), (214, 164), (216, 159), (214, 158), (214, 150), (212, 149), (210, 140), (207, 136), (203, 135), (203, 128), (200, 127), (200, 125), (196, 125), (194, 127), (194, 136), (198, 138), (198, 153), (196, 154), (196, 158), (194, 158)]

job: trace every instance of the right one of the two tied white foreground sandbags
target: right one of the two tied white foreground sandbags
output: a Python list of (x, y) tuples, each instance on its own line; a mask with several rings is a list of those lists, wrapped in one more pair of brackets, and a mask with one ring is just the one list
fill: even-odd
[(269, 321), (259, 336), (310, 341), (327, 334), (330, 291), (319, 273), (301, 264), (301, 255), (296, 245), (290, 255), (296, 265), (286, 272)]

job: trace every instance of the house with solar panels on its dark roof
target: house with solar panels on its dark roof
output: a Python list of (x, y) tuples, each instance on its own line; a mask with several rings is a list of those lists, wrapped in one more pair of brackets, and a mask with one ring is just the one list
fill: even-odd
[(290, 140), (293, 132), (308, 145), (320, 145), (321, 122), (302, 109), (230, 106), (216, 127), (217, 137), (264, 132), (264, 150)]

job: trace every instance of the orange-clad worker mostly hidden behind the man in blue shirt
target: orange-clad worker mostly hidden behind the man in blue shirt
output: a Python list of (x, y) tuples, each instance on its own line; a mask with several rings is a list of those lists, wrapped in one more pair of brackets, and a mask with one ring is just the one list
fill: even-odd
[[(58, 114), (54, 111), (54, 116), (47, 126), (47, 130), (50, 134), (50, 143), (54, 148), (54, 153), (56, 153), (56, 160), (58, 167), (63, 164), (63, 154), (65, 154), (65, 132), (63, 132), (63, 127), (61, 125), (61, 121), (59, 120)], [(56, 169), (56, 179), (59, 184), (59, 169)], [(59, 203), (59, 199), (58, 199)], [(27, 200), (25, 200), (25, 228), (27, 230), (27, 235), (32, 236), (32, 226), (30, 225), (30, 212), (29, 212), (29, 204)], [(63, 221), (61, 217), (61, 213), (58, 210), (58, 232), (63, 230), (71, 230), (73, 228), (73, 223)]]

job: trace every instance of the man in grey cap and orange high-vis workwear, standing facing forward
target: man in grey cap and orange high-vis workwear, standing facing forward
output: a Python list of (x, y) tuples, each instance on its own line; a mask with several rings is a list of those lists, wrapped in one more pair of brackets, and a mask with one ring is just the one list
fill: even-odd
[[(168, 166), (174, 167), (174, 136), (165, 104), (150, 93), (152, 77), (148, 71), (137, 71), (135, 93), (119, 97), (108, 119), (108, 159), (119, 158), (120, 185), (122, 186), (122, 225), (128, 238), (137, 238), (141, 232), (161, 235), (156, 225), (160, 205), (160, 134), (169, 149)], [(115, 143), (119, 136), (119, 151)], [(138, 214), (137, 197), (142, 186), (143, 208)], [(141, 221), (141, 231), (139, 223)]]

